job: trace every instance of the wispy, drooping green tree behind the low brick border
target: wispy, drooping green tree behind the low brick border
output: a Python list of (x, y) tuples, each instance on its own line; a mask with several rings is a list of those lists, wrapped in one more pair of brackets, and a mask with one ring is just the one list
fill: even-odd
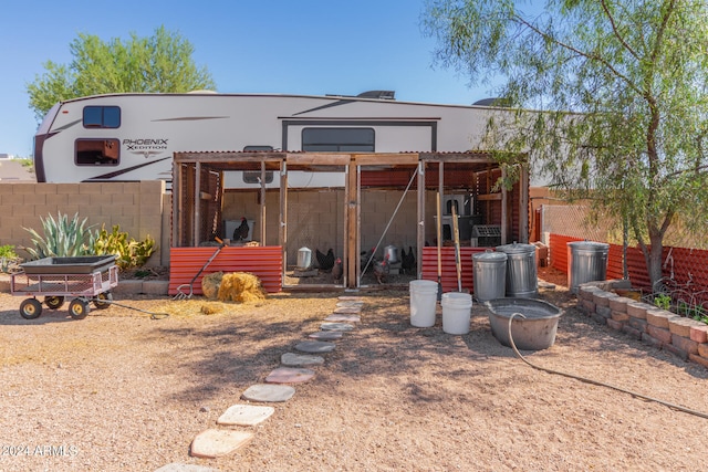
[[(671, 223), (708, 214), (705, 0), (430, 0), (436, 57), (502, 77), (524, 149), (561, 189), (624, 221), (655, 284)], [(490, 136), (493, 133), (490, 133)]]

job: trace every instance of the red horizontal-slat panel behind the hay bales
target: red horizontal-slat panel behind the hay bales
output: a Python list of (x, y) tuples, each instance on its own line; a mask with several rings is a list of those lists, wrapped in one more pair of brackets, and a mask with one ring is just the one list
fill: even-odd
[[(170, 248), (169, 294), (176, 295), (179, 285), (189, 284), (217, 250), (216, 247)], [(194, 282), (192, 293), (201, 295), (201, 277), (219, 271), (250, 272), (260, 279), (266, 292), (280, 292), (283, 285), (282, 248), (279, 245), (225, 247)]]

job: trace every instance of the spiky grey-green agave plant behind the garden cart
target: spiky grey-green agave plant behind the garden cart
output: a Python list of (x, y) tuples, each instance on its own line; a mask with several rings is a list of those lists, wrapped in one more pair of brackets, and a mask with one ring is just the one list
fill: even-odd
[(96, 233), (86, 225), (87, 218), (79, 220), (79, 213), (69, 220), (66, 214), (58, 213), (56, 219), (51, 214), (43, 219), (44, 237), (35, 230), (24, 228), (32, 235), (34, 248), (25, 248), (32, 259), (44, 258), (75, 258), (94, 254)]

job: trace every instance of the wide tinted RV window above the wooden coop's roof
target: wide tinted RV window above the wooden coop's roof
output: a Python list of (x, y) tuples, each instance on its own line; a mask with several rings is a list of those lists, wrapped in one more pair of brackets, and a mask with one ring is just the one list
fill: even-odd
[(330, 153), (373, 153), (372, 128), (304, 128), (302, 150)]

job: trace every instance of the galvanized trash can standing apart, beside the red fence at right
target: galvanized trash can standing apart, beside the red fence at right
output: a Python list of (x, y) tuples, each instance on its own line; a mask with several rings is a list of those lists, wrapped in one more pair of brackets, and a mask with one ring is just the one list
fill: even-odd
[(568, 276), (572, 293), (577, 294), (581, 284), (604, 281), (607, 276), (610, 244), (593, 241), (568, 243)]

